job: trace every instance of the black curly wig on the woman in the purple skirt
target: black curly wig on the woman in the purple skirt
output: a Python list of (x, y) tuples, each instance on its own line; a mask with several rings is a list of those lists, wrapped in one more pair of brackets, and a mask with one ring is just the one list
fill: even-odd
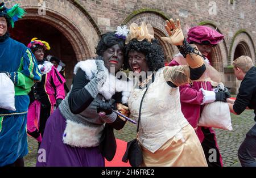
[(96, 54), (98, 54), (98, 56), (102, 56), (102, 54), (105, 52), (106, 49), (109, 49), (110, 47), (116, 44), (118, 44), (124, 52), (125, 40), (119, 39), (117, 36), (115, 36), (115, 32), (105, 33), (101, 35), (101, 40), (98, 42), (98, 45), (95, 47)]

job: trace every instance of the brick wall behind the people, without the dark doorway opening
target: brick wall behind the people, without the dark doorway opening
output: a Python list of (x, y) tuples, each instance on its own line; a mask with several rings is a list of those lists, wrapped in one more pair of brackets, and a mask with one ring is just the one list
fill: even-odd
[[(88, 53), (92, 55), (92, 46), (97, 43), (100, 33), (113, 31), (121, 23), (140, 23), (146, 20), (157, 29), (157, 37), (160, 37), (160, 35), (166, 35), (164, 31), (166, 18), (180, 18), (185, 34), (186, 29), (203, 22), (202, 24), (208, 24), (213, 28), (217, 27), (218, 31), (225, 36), (225, 40), (218, 45), (212, 55), (213, 66), (217, 70), (223, 72), (224, 68), (232, 63), (236, 46), (240, 43), (247, 46), (245, 54), (251, 56), (255, 62), (255, 0), (234, 0), (233, 5), (228, 0), (4, 0), (4, 2), (9, 7), (18, 2), (27, 9), (30, 9), (30, 6), (36, 7), (38, 2), (46, 2), (47, 12), (67, 20), (70, 23), (69, 26), (76, 29), (76, 33), (81, 34), (80, 38), (89, 45), (88, 49), (84, 47), (84, 50), (88, 52), (82, 53), (82, 48), (76, 44), (78, 37), (68, 38), (75, 46), (73, 47), (75, 53), (79, 53), (77, 54), (78, 60)], [(142, 9), (146, 11), (143, 12)], [(49, 19), (51, 18), (53, 16)], [(60, 22), (59, 26), (63, 25), (66, 23)], [(57, 25), (55, 27), (59, 28)], [(65, 33), (65, 30), (63, 29), (62, 32)], [(166, 56), (172, 57), (174, 46), (164, 43), (162, 45)]]

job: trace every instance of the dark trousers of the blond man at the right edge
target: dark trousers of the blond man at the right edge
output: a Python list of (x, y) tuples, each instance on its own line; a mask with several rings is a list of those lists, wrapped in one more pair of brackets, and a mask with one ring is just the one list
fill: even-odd
[(242, 167), (256, 167), (256, 124), (247, 132), (238, 150)]

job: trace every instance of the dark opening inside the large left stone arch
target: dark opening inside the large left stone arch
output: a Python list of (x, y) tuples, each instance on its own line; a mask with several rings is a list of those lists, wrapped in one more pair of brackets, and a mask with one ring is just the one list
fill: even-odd
[(27, 46), (33, 37), (38, 37), (39, 40), (47, 41), (51, 46), (50, 50), (46, 51), (45, 58), (48, 54), (56, 56), (65, 63), (65, 75), (68, 86), (71, 85), (73, 78), (73, 69), (77, 63), (75, 51), (68, 41), (57, 28), (40, 22), (39, 20), (19, 20), (15, 23), (15, 28), (10, 29), (10, 35), (13, 39)]

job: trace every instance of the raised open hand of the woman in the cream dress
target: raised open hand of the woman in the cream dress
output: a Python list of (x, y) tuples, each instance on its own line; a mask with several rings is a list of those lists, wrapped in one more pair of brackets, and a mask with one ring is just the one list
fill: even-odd
[(166, 20), (166, 31), (169, 37), (161, 37), (163, 41), (167, 41), (172, 45), (183, 45), (184, 35), (181, 30), (180, 20), (176, 20), (176, 24), (174, 23), (174, 19)]

